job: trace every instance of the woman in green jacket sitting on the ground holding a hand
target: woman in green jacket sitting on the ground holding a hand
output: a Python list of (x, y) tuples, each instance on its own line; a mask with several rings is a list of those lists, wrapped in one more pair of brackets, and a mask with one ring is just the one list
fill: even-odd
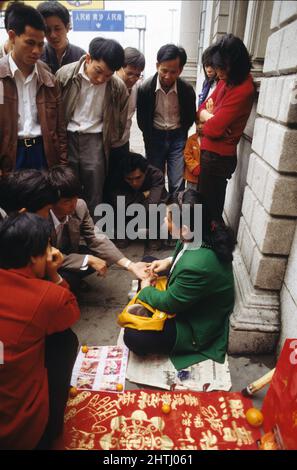
[[(181, 208), (190, 207), (189, 226), (175, 224), (172, 200), (167, 207), (168, 231), (179, 238), (173, 257), (155, 260), (150, 277), (141, 283), (138, 298), (169, 314), (163, 331), (139, 331), (125, 328), (124, 342), (138, 355), (169, 354), (176, 369), (213, 359), (223, 363), (228, 344), (229, 315), (234, 306), (232, 252), (234, 237), (230, 228), (214, 224), (202, 196), (184, 192)], [(202, 242), (188, 241), (193, 232), (195, 205), (202, 208)], [(174, 221), (173, 221), (174, 220)], [(158, 273), (169, 271), (167, 288), (153, 287)]]

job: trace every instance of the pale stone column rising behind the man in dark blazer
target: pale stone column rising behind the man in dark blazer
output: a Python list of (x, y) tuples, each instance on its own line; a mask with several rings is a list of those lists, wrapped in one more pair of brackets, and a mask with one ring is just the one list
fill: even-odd
[(199, 37), (200, 1), (182, 1), (180, 15), (179, 44), (185, 48), (188, 56), (182, 77), (195, 88), (197, 77), (197, 52)]

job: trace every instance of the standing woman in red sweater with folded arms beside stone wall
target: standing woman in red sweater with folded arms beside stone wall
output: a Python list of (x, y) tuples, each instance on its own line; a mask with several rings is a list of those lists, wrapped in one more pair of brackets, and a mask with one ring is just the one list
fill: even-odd
[(255, 87), (241, 39), (226, 34), (211, 48), (211, 55), (219, 83), (197, 111), (202, 136), (198, 190), (212, 219), (222, 222), (227, 180), (236, 168), (236, 147), (253, 106)]

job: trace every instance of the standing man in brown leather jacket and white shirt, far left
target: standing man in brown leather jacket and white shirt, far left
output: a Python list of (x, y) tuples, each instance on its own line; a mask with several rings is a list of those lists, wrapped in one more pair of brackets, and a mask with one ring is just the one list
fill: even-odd
[(67, 139), (59, 86), (38, 59), (45, 25), (27, 5), (11, 12), (10, 54), (0, 59), (0, 155), (12, 167), (47, 168), (67, 161)]

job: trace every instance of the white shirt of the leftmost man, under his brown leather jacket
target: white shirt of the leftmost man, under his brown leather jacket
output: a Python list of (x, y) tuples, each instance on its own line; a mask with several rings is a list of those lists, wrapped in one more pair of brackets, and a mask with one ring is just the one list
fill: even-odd
[(36, 105), (37, 66), (35, 64), (33, 72), (25, 78), (11, 53), (8, 56), (8, 61), (18, 91), (18, 138), (38, 137), (41, 135), (41, 127)]

